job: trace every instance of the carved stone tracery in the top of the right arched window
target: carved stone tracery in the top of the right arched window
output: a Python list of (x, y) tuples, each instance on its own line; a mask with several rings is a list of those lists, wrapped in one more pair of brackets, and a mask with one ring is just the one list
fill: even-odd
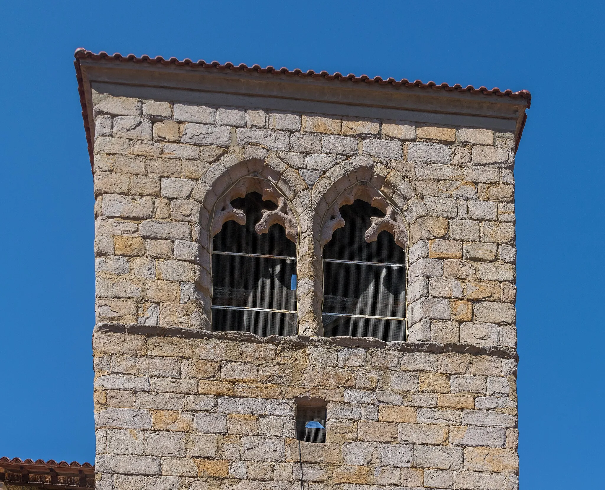
[(378, 234), (381, 231), (387, 230), (395, 238), (395, 243), (405, 250), (408, 242), (408, 230), (405, 226), (404, 218), (401, 213), (397, 211), (396, 207), (393, 206), (393, 203), (367, 181), (361, 181), (355, 186), (341, 192), (336, 200), (328, 207), (328, 210), (324, 215), (321, 236), (319, 238), (321, 246), (323, 247), (332, 240), (332, 235), (335, 230), (344, 226), (344, 219), (342, 219), (340, 214), (341, 206), (353, 204), (353, 201), (356, 199), (361, 199), (370, 203), (373, 207), (377, 207), (385, 214), (384, 217), (370, 218), (372, 224), (364, 234), (365, 241), (368, 243), (376, 241)]

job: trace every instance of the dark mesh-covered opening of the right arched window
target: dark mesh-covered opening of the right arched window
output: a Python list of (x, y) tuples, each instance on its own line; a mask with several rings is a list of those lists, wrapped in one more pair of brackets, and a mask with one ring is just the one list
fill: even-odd
[(405, 341), (405, 258), (383, 231), (367, 243), (371, 217), (384, 216), (365, 201), (340, 209), (345, 226), (324, 247), (325, 336)]

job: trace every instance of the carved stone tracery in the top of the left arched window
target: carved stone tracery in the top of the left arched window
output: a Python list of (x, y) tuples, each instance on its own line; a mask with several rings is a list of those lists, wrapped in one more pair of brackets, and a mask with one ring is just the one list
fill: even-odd
[(263, 217), (255, 225), (254, 229), (259, 235), (267, 233), (273, 224), (281, 224), (286, 230), (286, 237), (296, 243), (298, 239), (298, 224), (296, 215), (292, 211), (289, 201), (278, 192), (268, 180), (260, 177), (240, 178), (231, 188), (218, 199), (214, 206), (212, 218), (211, 238), (223, 228), (227, 221), (234, 220), (239, 224), (246, 224), (246, 214), (241, 209), (235, 209), (231, 201), (238, 197), (246, 197), (249, 192), (258, 192), (263, 196), (263, 201), (271, 201), (277, 208), (273, 210), (264, 209)]

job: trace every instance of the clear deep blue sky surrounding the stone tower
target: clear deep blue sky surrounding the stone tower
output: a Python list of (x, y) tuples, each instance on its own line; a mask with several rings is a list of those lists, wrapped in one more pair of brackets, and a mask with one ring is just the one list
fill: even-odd
[(604, 13), (569, 1), (3, 2), (0, 456), (94, 459), (82, 46), (530, 90), (515, 166), (521, 483), (603, 488)]

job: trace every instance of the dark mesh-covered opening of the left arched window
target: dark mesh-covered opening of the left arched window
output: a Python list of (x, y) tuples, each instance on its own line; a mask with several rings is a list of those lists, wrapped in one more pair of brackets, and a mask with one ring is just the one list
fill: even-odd
[(246, 224), (227, 221), (214, 237), (212, 327), (258, 336), (296, 333), (296, 246), (278, 224), (267, 234), (254, 226), (275, 204), (251, 192), (232, 201)]

